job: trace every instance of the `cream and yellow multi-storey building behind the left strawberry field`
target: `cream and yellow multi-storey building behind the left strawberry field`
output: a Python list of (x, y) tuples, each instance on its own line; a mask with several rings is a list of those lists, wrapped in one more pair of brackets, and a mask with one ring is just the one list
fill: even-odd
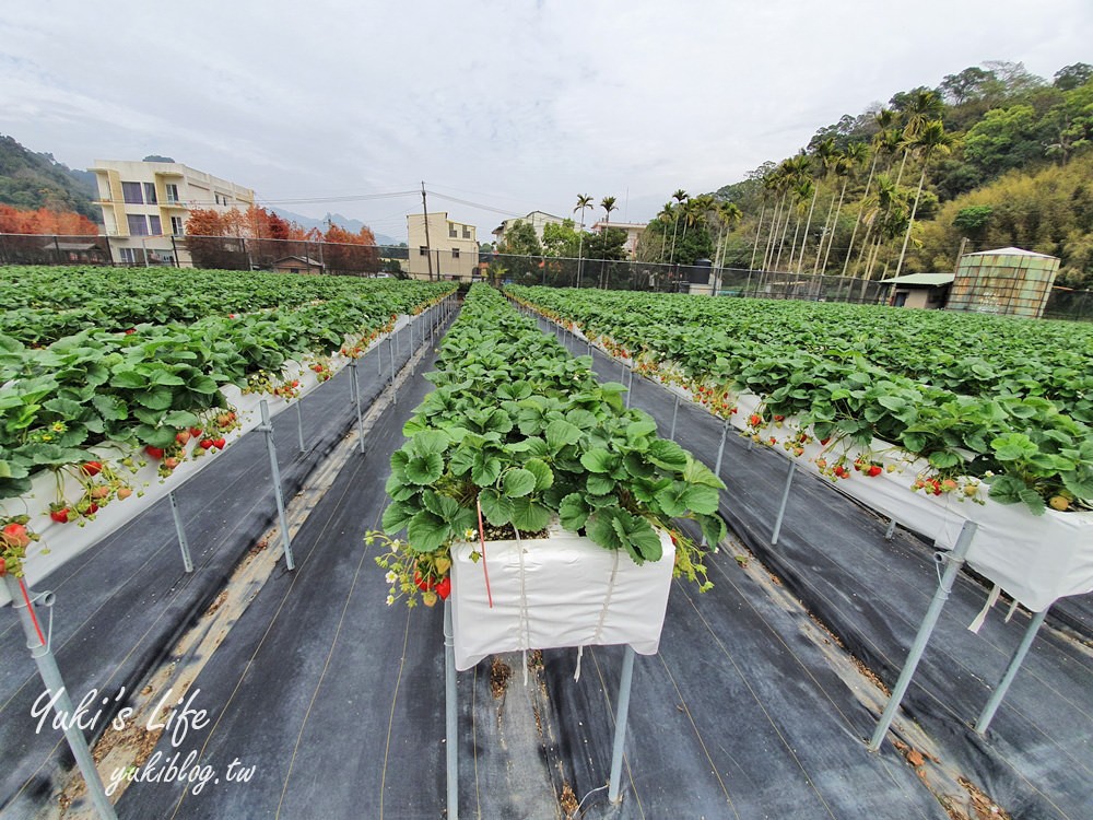
[(247, 210), (250, 188), (177, 162), (96, 160), (103, 224), (119, 265), (189, 265), (184, 243), (190, 209)]

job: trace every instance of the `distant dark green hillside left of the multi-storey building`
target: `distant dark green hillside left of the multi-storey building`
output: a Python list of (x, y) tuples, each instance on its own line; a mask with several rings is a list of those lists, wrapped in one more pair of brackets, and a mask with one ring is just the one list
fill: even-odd
[(52, 154), (34, 153), (0, 134), (0, 203), (21, 210), (74, 211), (101, 222), (102, 212), (92, 204), (96, 195), (94, 175), (72, 172)]

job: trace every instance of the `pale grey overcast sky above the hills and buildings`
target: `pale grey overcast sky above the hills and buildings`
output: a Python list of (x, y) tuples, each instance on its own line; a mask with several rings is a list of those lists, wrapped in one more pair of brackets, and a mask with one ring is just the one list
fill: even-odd
[(986, 60), (1093, 62), (1093, 0), (3, 7), (0, 132), (78, 168), (164, 154), (396, 237), (420, 195), (368, 197), (424, 180), (480, 241), (578, 194), (644, 222), (897, 91)]

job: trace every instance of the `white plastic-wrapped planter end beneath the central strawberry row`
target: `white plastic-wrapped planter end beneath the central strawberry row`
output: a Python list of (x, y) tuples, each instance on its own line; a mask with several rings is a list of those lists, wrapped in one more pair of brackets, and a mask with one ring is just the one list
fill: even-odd
[[(623, 551), (552, 525), (546, 538), (451, 548), (456, 668), (494, 653), (628, 644), (655, 655), (668, 608), (675, 548), (660, 532), (663, 555), (640, 566)], [(486, 573), (490, 594), (486, 591)]]

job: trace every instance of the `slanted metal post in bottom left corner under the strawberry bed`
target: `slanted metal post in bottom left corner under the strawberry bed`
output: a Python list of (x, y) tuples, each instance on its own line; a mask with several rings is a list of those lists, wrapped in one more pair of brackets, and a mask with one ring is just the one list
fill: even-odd
[[(42, 634), (42, 626), (38, 624), (37, 617), (32, 609), (34, 605), (23, 579), (14, 577), (11, 573), (4, 575), (3, 579), (8, 586), (8, 594), (11, 596), (11, 607), (19, 616), (20, 623), (23, 624), (23, 633), (26, 635), (26, 648), (31, 651), (31, 657), (34, 658), (34, 663), (38, 667), (38, 675), (42, 676), (42, 682), (46, 684), (46, 691), (49, 692), (50, 704), (59, 716), (66, 718), (64, 738), (72, 750), (72, 757), (75, 758), (77, 765), (80, 766), (80, 773), (83, 774), (84, 783), (87, 786), (87, 795), (91, 797), (95, 811), (98, 813), (101, 820), (118, 820), (118, 816), (114, 811), (114, 806), (110, 804), (110, 798), (106, 796), (103, 780), (98, 776), (95, 761), (91, 757), (91, 749), (87, 748), (87, 739), (83, 736), (80, 727), (75, 725), (77, 722), (72, 719), (75, 715), (75, 708), (72, 706), (72, 699), (69, 698), (68, 689), (64, 687), (61, 671), (57, 668), (57, 658), (54, 657), (51, 645), (52, 635), (49, 634), (47, 636)], [(51, 595), (48, 598), (45, 595), (42, 597), (45, 598), (44, 602), (46, 602), (46, 606), (51, 604)], [(52, 632), (51, 626), (50, 616), (49, 633)]]

